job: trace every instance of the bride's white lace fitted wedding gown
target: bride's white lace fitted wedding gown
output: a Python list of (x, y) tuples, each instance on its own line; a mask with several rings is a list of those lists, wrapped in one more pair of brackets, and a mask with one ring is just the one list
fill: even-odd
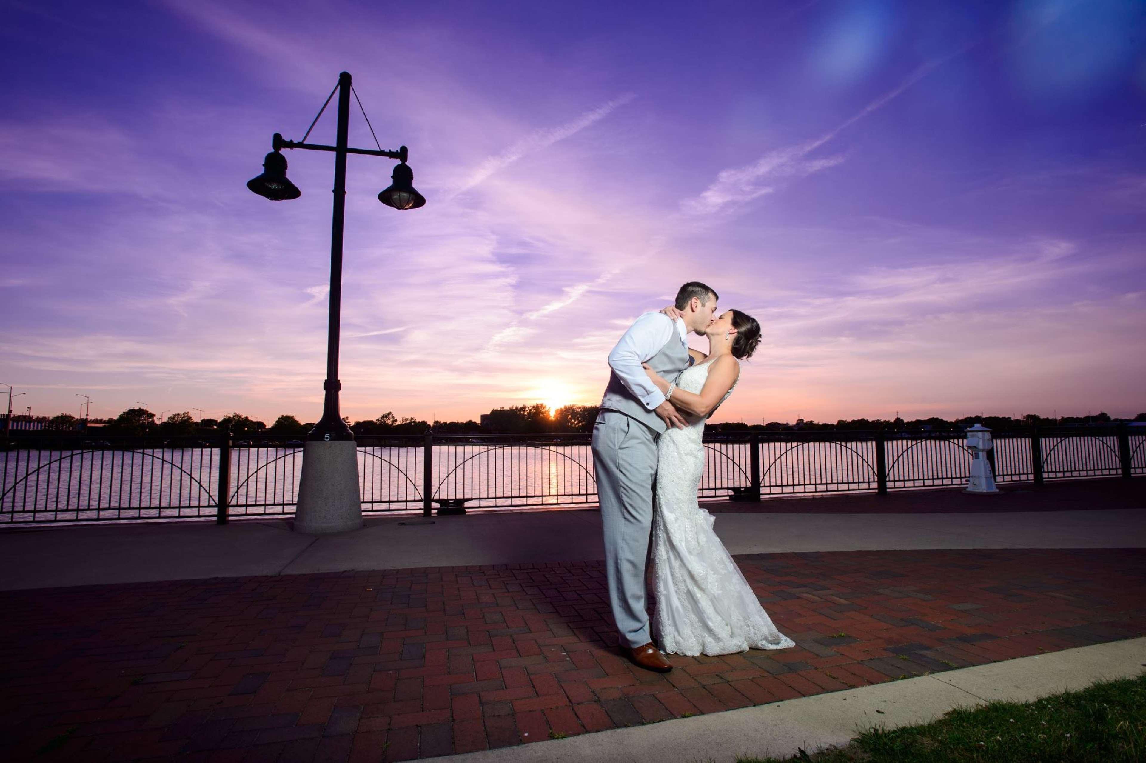
[[(699, 393), (712, 361), (685, 369), (676, 386)], [(733, 385), (735, 388), (736, 385)], [(732, 390), (728, 391), (728, 395)], [(657, 605), (653, 637), (675, 654), (731, 654), (795, 644), (776, 630), (748, 581), (713, 530), (715, 518), (697, 503), (705, 469), (705, 417), (660, 435), (652, 560)]]

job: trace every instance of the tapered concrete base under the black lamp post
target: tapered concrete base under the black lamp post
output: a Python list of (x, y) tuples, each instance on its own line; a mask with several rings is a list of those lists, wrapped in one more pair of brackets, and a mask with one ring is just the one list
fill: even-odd
[(345, 533), (362, 527), (358, 446), (353, 440), (308, 441), (303, 448), (295, 532)]

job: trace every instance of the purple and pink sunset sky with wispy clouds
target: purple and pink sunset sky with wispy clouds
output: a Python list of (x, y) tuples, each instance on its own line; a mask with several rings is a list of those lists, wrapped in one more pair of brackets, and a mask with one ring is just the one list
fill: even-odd
[(688, 280), (763, 327), (721, 420), (1133, 415), (1144, 8), (5, 2), (0, 382), (316, 419), (332, 157), (284, 152), (295, 202), (244, 183), (346, 70), (429, 199), (351, 157), (354, 419), (596, 403)]

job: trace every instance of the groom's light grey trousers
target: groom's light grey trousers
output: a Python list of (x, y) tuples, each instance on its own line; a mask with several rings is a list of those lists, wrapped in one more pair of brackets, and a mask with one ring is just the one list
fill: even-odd
[(652, 534), (657, 438), (653, 430), (615, 410), (602, 410), (592, 427), (609, 603), (625, 646), (652, 640), (645, 611), (645, 560)]

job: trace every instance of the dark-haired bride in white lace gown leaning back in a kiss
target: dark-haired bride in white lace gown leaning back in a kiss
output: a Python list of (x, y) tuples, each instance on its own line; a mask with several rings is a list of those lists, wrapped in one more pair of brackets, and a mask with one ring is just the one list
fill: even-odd
[[(662, 312), (676, 320), (672, 308)], [(688, 655), (787, 648), (795, 644), (772, 624), (713, 530), (715, 518), (697, 502), (705, 467), (705, 419), (732, 394), (739, 359), (751, 356), (760, 344), (760, 324), (740, 310), (728, 310), (706, 333), (708, 355), (690, 349), (697, 362), (675, 382), (645, 367), (689, 422), (684, 428), (668, 430), (658, 442), (653, 637), (665, 652)]]

